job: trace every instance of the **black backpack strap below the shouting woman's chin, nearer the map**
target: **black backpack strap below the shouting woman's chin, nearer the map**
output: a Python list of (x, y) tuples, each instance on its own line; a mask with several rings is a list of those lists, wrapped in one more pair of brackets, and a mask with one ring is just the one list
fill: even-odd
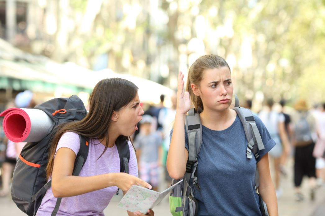
[(130, 149), (127, 140), (124, 137), (116, 139), (116, 148), (120, 157), (120, 172), (129, 173)]

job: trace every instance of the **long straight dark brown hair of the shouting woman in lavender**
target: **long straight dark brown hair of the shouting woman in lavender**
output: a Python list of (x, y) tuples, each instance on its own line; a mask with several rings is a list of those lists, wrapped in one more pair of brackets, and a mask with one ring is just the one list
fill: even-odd
[[(94, 138), (101, 140), (106, 138), (104, 153), (108, 148), (108, 128), (113, 111), (118, 111), (130, 103), (136, 97), (137, 91), (138, 87), (125, 79), (110, 78), (99, 81), (90, 96), (89, 112), (85, 118), (81, 121), (61, 124), (56, 128), (49, 148), (46, 178), (48, 179), (52, 175), (54, 154), (58, 142), (61, 136), (67, 131), (83, 135), (88, 140)], [(124, 138), (128, 139), (128, 137)]]

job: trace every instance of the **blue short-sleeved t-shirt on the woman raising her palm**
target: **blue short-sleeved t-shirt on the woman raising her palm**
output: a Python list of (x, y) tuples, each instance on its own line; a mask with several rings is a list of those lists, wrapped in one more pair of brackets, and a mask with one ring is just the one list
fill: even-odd
[[(254, 118), (265, 146), (259, 151), (258, 162), (275, 146), (275, 142), (262, 121), (257, 116)], [(188, 150), (186, 131), (185, 148)], [(202, 125), (197, 173), (201, 189), (194, 190), (199, 204), (198, 215), (261, 215), (254, 189), (257, 162), (254, 157), (246, 157), (246, 149), (247, 140), (238, 116), (223, 131), (214, 131)], [(195, 186), (191, 185), (191, 188)]]

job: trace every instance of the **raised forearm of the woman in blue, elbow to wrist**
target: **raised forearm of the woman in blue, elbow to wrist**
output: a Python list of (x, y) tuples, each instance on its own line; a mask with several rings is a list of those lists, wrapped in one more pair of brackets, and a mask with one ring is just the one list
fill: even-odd
[(184, 122), (186, 115), (175, 115), (175, 124), (172, 139), (167, 155), (167, 170), (172, 178), (179, 179), (184, 176), (186, 170), (186, 154), (185, 154), (185, 130)]

